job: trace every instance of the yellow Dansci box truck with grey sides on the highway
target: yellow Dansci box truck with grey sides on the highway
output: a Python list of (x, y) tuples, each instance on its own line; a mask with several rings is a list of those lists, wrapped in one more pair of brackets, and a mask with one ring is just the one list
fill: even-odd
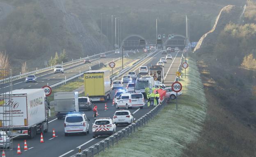
[(85, 96), (91, 101), (110, 100), (110, 71), (91, 70), (84, 73)]

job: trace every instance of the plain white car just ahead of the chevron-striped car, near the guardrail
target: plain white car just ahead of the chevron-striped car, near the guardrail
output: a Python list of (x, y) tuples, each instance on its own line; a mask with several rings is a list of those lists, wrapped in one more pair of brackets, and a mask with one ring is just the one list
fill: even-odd
[(133, 114), (129, 110), (116, 111), (113, 115), (114, 124), (132, 124), (134, 121)]

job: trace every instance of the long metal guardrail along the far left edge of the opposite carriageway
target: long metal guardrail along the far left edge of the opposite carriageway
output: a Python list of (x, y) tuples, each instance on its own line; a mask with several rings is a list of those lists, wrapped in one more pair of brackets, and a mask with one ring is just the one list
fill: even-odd
[[(114, 50), (107, 51), (107, 52), (104, 52), (104, 53), (111, 53), (111, 52), (114, 52)], [(88, 57), (95, 57), (95, 56), (98, 56), (98, 55), (101, 55), (101, 53), (98, 53), (98, 54), (95, 54), (95, 55), (91, 55), (91, 56), (88, 56)], [(80, 59), (77, 59), (77, 60), (72, 60), (72, 61), (69, 61), (69, 62), (66, 62), (66, 63), (62, 63), (62, 64), (58, 64), (58, 65), (59, 66), (68, 66), (68, 65), (71, 65), (71, 64), (82, 62), (85, 58), (87, 58), (87, 57), (83, 57), (83, 58), (80, 58)], [(53, 70), (54, 67), (58, 66), (58, 65), (50, 66), (50, 67), (39, 69), (39, 70), (36, 70), (36, 71), (31, 71), (31, 72), (28, 72), (28, 73), (23, 73), (21, 75), (16, 75), (16, 76), (13, 76), (13, 77), (8, 77), (8, 78), (0, 80), (0, 83), (4, 84), (4, 83), (9, 82), (10, 80), (14, 81), (14, 80), (19, 80), (21, 78), (25, 78), (25, 77), (27, 77), (27, 75), (35, 75), (35, 74), (43, 73), (43, 72), (46, 72), (46, 71), (50, 71), (50, 70)]]

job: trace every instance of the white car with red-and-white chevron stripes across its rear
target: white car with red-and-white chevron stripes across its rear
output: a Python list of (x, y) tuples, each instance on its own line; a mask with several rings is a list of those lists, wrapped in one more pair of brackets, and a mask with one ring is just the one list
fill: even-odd
[(116, 124), (110, 117), (97, 118), (92, 125), (92, 138), (100, 135), (113, 135), (116, 132)]

